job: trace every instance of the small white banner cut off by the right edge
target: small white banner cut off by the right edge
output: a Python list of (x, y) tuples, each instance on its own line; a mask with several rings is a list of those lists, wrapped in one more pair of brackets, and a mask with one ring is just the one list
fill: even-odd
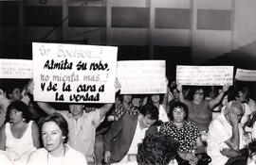
[(256, 71), (237, 69), (235, 79), (240, 81), (256, 81)]

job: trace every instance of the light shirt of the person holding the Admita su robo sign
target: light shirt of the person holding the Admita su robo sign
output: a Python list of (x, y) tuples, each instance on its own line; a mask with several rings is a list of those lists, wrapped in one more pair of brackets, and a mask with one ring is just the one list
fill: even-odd
[(82, 152), (87, 159), (93, 157), (96, 128), (103, 121), (100, 119), (101, 108), (90, 112), (83, 111), (82, 116), (77, 121), (67, 110), (58, 110), (58, 112), (64, 116), (68, 124), (67, 144)]

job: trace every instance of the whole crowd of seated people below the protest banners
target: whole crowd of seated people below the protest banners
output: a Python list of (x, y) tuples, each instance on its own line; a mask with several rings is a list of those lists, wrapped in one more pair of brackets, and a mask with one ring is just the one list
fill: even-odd
[(113, 104), (36, 102), (31, 81), (0, 87), (0, 162), (256, 163), (256, 104), (245, 84), (167, 86), (166, 93), (119, 94), (116, 81)]

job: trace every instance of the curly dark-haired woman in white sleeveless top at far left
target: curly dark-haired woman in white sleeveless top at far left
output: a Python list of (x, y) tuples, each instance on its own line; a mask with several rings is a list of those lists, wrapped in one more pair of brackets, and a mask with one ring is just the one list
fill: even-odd
[(29, 154), (40, 147), (38, 126), (30, 121), (27, 105), (13, 101), (7, 108), (7, 123), (0, 129), (0, 149), (18, 164), (24, 164)]

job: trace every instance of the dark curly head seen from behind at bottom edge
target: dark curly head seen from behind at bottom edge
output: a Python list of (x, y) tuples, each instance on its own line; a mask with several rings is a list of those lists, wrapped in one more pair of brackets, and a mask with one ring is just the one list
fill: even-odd
[(174, 159), (179, 143), (163, 134), (153, 134), (146, 137), (137, 149), (137, 164), (177, 165)]

